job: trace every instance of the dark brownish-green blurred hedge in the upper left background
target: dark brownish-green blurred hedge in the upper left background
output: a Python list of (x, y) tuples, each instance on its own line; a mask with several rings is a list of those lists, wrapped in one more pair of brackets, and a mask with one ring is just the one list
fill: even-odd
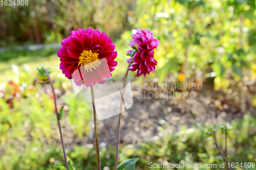
[(30, 0), (28, 6), (1, 5), (0, 46), (60, 42), (71, 30), (88, 27), (116, 39), (131, 29), (127, 11), (135, 6), (135, 0)]

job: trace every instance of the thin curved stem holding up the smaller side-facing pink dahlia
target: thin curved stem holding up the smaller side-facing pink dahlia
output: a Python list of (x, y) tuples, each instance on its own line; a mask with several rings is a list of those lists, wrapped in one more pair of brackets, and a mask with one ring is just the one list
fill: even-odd
[(121, 118), (122, 118), (122, 108), (123, 108), (123, 96), (124, 96), (124, 92), (125, 92), (125, 84), (126, 84), (126, 80), (127, 80), (127, 76), (128, 76), (128, 72), (129, 72), (129, 67), (131, 66), (131, 64), (133, 63), (133, 58), (130, 61), (127, 70), (125, 72), (124, 75), (124, 80), (123, 80), (123, 92), (122, 92), (122, 100), (120, 103), (120, 111), (119, 111), (119, 119), (118, 119), (118, 127), (117, 127), (117, 142), (116, 142), (116, 160), (115, 160), (115, 168), (114, 170), (117, 170), (117, 165), (118, 165), (118, 155), (119, 155), (119, 141), (120, 141), (120, 129), (121, 129)]

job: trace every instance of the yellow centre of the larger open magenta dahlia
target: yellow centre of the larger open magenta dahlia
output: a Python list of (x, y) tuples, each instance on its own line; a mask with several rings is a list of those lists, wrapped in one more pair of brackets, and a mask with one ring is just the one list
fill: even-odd
[(99, 67), (100, 61), (98, 61), (98, 53), (92, 52), (91, 50), (84, 50), (81, 53), (81, 56), (78, 58), (79, 63), (78, 66), (84, 66), (84, 68), (89, 71), (89, 69), (92, 71), (92, 68)]

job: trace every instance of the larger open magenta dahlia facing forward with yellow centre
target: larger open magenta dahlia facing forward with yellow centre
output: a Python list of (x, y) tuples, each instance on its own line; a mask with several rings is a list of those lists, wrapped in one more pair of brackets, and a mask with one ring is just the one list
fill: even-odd
[[(103, 84), (103, 78), (111, 78), (110, 72), (117, 66), (117, 52), (114, 51), (115, 44), (104, 32), (91, 28), (73, 30), (60, 44), (59, 68), (68, 79), (74, 79), (76, 85), (89, 87), (95, 83)], [(74, 75), (74, 71), (80, 74)]]

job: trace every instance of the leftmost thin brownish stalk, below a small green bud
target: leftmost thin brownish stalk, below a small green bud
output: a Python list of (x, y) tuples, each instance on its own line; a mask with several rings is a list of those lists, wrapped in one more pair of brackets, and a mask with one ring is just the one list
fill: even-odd
[(61, 145), (62, 145), (62, 149), (63, 149), (63, 155), (64, 155), (64, 160), (65, 160), (65, 166), (66, 166), (66, 169), (69, 170), (68, 161), (67, 161), (67, 154), (66, 154), (66, 150), (65, 150), (63, 135), (62, 135), (61, 126), (60, 126), (60, 121), (59, 121), (59, 114), (58, 114), (58, 110), (57, 110), (56, 94), (55, 94), (55, 91), (54, 91), (52, 79), (50, 78), (49, 72), (47, 71), (46, 68), (44, 68), (44, 69), (45, 69), (45, 71), (46, 71), (47, 77), (48, 77), (48, 79), (49, 79), (49, 81), (50, 81), (50, 84), (51, 84), (51, 87), (52, 87), (52, 92), (53, 92), (53, 97), (54, 97), (54, 105), (55, 105), (55, 113), (56, 113), (56, 116), (57, 116), (57, 122), (58, 122), (58, 127), (59, 127), (59, 134), (60, 134)]

